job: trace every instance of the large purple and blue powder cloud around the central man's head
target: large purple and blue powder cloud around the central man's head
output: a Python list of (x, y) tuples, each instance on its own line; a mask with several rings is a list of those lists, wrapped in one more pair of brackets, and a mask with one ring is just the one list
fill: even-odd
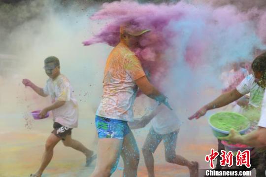
[[(253, 20), (254, 14), (261, 20)], [(260, 10), (245, 13), (233, 5), (214, 8), (182, 1), (159, 5), (115, 1), (104, 3), (91, 17), (106, 25), (83, 44), (115, 46), (124, 23), (130, 23), (132, 30), (151, 30), (141, 36), (141, 48), (133, 50), (152, 83), (163, 89), (162, 79), (167, 74), (177, 75), (180, 62), (192, 70), (209, 65), (213, 66), (209, 70), (219, 71), (228, 62), (252, 59), (254, 49), (266, 49), (262, 42), (266, 38), (265, 17), (261, 15)]]

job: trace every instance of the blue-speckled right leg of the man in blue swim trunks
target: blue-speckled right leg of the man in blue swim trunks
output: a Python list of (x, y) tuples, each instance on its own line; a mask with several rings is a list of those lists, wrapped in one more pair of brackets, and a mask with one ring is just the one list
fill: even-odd
[(139, 150), (132, 132), (124, 137), (121, 156), (124, 162), (123, 177), (136, 177)]

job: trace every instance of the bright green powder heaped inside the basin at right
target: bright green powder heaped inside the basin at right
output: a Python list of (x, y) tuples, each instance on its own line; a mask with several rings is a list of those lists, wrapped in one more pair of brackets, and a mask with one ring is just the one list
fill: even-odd
[(210, 117), (210, 124), (220, 130), (243, 130), (249, 125), (249, 121), (243, 115), (234, 112), (219, 112)]

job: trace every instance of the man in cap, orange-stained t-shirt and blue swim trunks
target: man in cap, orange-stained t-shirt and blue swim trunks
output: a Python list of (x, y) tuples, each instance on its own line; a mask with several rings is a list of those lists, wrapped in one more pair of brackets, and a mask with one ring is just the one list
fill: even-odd
[(140, 36), (149, 30), (121, 27), (120, 43), (111, 51), (104, 70), (103, 95), (96, 112), (99, 135), (98, 159), (91, 177), (110, 177), (120, 155), (124, 161), (123, 177), (136, 177), (139, 150), (128, 122), (133, 121), (137, 88), (148, 97), (166, 104), (166, 97), (150, 84), (139, 59), (131, 50)]

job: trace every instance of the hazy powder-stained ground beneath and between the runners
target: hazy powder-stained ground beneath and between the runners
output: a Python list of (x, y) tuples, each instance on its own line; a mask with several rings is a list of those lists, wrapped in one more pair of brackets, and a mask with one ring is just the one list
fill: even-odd
[[(44, 142), (52, 130), (52, 120), (31, 120), (31, 125), (25, 127), (26, 120), (23, 114), (0, 115), (0, 176), (1, 177), (27, 177), (33, 173), (40, 162), (44, 149)], [(182, 127), (178, 137), (176, 152), (184, 157), (198, 161), (200, 169), (207, 169), (208, 163), (204, 157), (211, 147), (216, 148), (216, 140), (203, 118), (197, 122), (187, 122)], [(139, 147), (144, 142), (148, 128), (134, 131)], [(194, 135), (200, 137), (196, 139)], [(84, 143), (87, 147), (94, 149), (94, 117), (81, 118), (79, 128), (74, 129), (73, 138)], [(164, 146), (160, 144), (155, 153), (155, 171), (157, 177), (188, 177), (185, 167), (169, 164), (164, 160)], [(89, 177), (94, 169), (84, 167), (85, 157), (78, 151), (67, 148), (59, 143), (54, 152), (52, 162), (45, 170), (43, 177)], [(121, 177), (122, 162), (112, 177)], [(143, 157), (140, 158), (138, 177), (147, 177)]]

